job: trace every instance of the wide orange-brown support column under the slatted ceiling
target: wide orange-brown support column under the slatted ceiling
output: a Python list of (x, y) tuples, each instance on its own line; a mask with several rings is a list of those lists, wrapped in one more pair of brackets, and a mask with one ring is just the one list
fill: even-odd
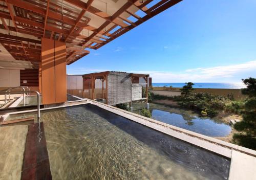
[(67, 101), (66, 43), (41, 38), (42, 104)]

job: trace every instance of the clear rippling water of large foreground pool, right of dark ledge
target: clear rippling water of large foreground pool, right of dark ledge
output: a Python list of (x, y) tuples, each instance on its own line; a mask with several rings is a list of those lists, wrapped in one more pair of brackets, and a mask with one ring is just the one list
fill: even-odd
[(53, 179), (227, 179), (230, 160), (87, 104), (41, 114)]

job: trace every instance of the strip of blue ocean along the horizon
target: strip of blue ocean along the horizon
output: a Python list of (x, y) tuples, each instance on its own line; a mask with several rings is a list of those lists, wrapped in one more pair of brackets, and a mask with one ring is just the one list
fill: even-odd
[[(244, 83), (233, 82), (233, 83), (217, 83), (217, 82), (194, 82), (194, 88), (218, 88), (218, 89), (241, 89), (246, 86)], [(155, 87), (163, 87), (164, 85), (169, 87), (170, 85), (173, 87), (182, 87), (185, 85), (184, 82), (158, 82), (152, 83)]]

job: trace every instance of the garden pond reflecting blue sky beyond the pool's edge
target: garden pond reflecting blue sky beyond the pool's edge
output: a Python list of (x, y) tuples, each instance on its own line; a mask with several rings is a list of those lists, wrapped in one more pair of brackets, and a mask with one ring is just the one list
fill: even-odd
[[(138, 104), (133, 104), (139, 114)], [(152, 118), (166, 124), (194, 131), (210, 137), (225, 137), (231, 127), (218, 118), (200, 117), (194, 111), (150, 103)]]

